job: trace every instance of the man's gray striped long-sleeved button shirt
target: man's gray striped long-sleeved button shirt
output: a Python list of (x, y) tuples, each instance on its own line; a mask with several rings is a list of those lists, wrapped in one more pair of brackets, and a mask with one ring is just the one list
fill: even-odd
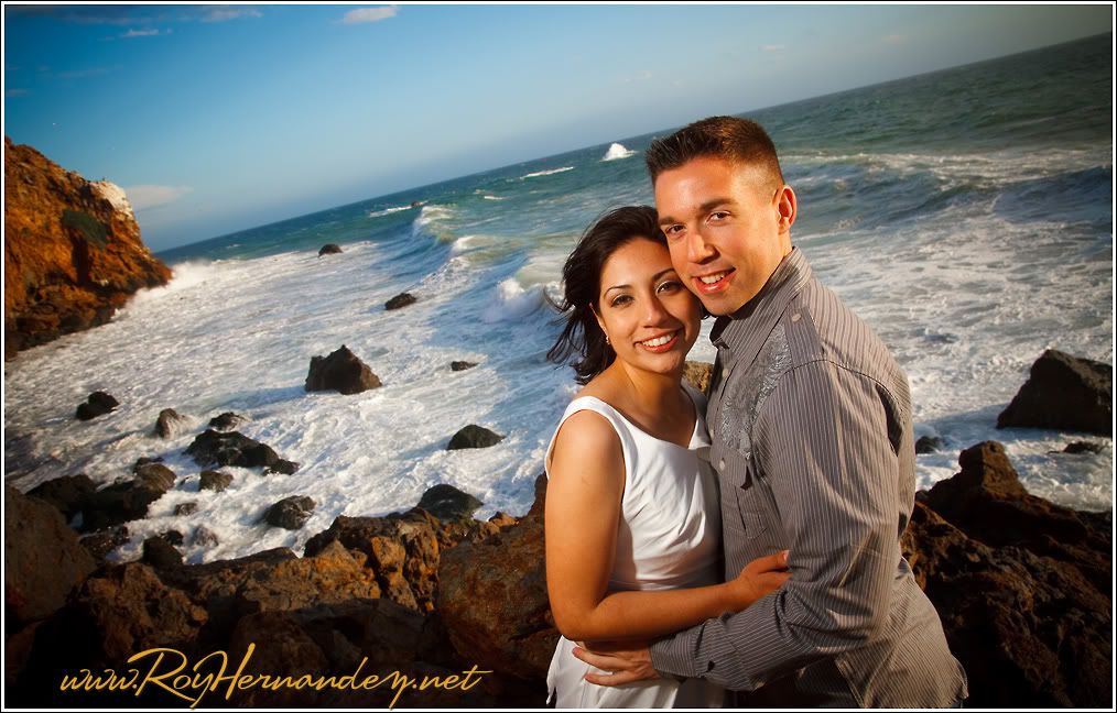
[(782, 549), (792, 576), (744, 611), (656, 642), (656, 669), (739, 691), (741, 705), (965, 697), (965, 672), (900, 553), (915, 446), (907, 377), (884, 343), (799, 249), (710, 338), (725, 576)]

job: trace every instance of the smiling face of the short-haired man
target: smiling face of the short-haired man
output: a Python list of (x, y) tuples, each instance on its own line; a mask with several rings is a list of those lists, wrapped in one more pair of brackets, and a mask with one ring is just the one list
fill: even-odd
[(699, 156), (655, 189), (671, 263), (710, 314), (741, 309), (791, 252), (795, 194), (761, 170)]

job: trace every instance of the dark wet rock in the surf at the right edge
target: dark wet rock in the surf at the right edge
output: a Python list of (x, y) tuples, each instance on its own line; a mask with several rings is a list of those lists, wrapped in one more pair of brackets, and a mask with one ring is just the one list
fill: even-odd
[(1048, 349), (1032, 364), (1030, 376), (997, 428), (1013, 426), (1086, 431), (1113, 435), (1114, 369), (1108, 364)]

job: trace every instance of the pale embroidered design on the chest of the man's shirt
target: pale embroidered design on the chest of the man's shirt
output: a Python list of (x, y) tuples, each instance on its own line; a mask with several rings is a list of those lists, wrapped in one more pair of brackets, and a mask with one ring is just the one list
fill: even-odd
[(764, 401), (775, 389), (780, 376), (790, 368), (787, 331), (783, 325), (776, 325), (748, 369), (731, 377), (732, 385), (726, 384), (720, 413), (722, 443), (735, 449), (745, 460), (753, 454), (753, 424)]

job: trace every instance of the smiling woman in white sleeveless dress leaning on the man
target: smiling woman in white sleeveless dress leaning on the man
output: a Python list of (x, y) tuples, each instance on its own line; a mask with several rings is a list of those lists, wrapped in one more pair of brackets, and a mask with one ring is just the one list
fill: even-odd
[[(583, 385), (547, 449), (547, 589), (563, 635), (557, 707), (719, 706), (700, 680), (604, 687), (573, 642), (649, 640), (738, 611), (786, 579), (783, 553), (720, 582), (717, 483), (700, 455), (705, 398), (681, 384), (700, 303), (671, 267), (655, 209), (618, 209), (563, 268), (565, 328), (547, 358)], [(548, 695), (550, 701), (550, 695)]]

